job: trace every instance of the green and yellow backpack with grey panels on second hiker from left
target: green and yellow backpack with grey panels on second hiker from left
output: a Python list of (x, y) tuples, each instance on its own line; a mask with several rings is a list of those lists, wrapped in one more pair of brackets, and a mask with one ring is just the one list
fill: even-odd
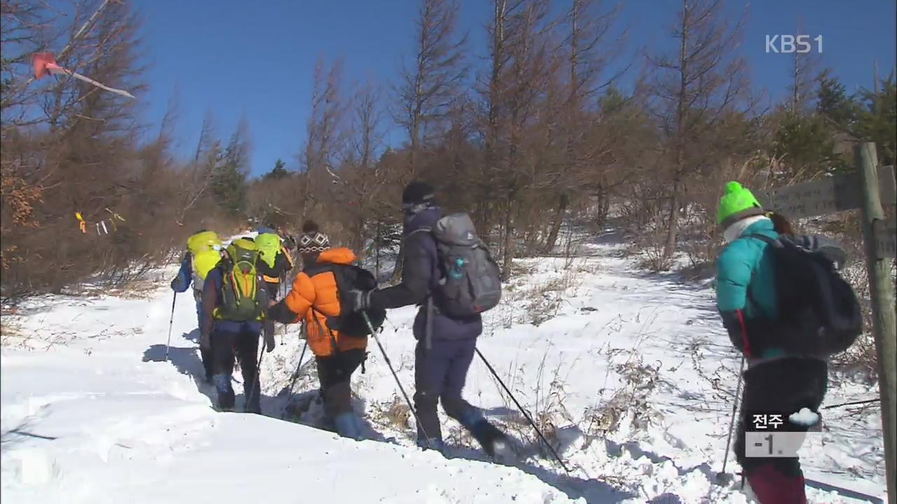
[(256, 271), (258, 248), (248, 239), (235, 239), (227, 247), (229, 261), (222, 267), (222, 303), (215, 317), (251, 321), (265, 317), (267, 294)]

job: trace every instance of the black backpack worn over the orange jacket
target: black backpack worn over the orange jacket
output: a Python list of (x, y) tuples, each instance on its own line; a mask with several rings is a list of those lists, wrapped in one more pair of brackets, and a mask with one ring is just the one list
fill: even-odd
[[(327, 327), (333, 331), (338, 331), (341, 335), (365, 337), (370, 335), (370, 327), (364, 316), (360, 312), (353, 312), (351, 306), (347, 306), (345, 300), (348, 300), (349, 291), (371, 291), (377, 288), (377, 279), (368, 270), (356, 265), (334, 265), (326, 263), (318, 263), (310, 265), (303, 270), (309, 277), (316, 274), (331, 272), (334, 274), (336, 281), (336, 297), (339, 299), (340, 315), (337, 317), (327, 317)], [(314, 309), (312, 307), (312, 309)], [(317, 310), (316, 310), (317, 311)], [(376, 331), (387, 318), (387, 310), (384, 308), (365, 310), (370, 325)], [(317, 318), (316, 318), (317, 320)]]

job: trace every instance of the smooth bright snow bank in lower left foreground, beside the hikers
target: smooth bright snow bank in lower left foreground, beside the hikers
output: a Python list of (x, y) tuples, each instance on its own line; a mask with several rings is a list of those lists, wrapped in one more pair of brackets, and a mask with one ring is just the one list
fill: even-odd
[[(96, 332), (113, 320), (126, 330), (101, 344), (79, 336), (46, 352), (4, 349), (4, 498), (568, 501), (516, 469), (446, 461), (386, 443), (359, 444), (264, 416), (215, 413), (189, 375), (170, 363), (143, 361), (144, 352), (164, 352), (159, 342), (167, 333), (169, 306), (170, 292), (160, 291), (148, 304), (107, 299), (79, 306), (80, 323), (65, 302), (52, 315), (26, 319), (22, 331), (40, 326), (44, 334), (70, 328), (73, 335), (90, 335), (88, 327)], [(179, 297), (179, 314), (193, 315), (192, 308), (188, 296)], [(189, 335), (191, 319), (177, 318), (172, 355), (195, 352), (182, 336)]]

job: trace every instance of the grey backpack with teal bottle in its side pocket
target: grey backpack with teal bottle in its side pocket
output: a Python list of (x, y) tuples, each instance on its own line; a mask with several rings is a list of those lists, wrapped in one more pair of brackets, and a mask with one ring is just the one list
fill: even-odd
[(449, 317), (471, 317), (495, 308), (501, 300), (501, 270), (466, 213), (452, 213), (436, 222), (441, 273), (433, 290), (434, 304)]

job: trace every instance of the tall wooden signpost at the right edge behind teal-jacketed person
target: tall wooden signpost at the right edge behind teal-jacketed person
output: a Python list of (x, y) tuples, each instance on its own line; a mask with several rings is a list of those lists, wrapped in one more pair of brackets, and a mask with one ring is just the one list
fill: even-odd
[(894, 289), (891, 282), (890, 261), (878, 253), (876, 236), (884, 222), (884, 209), (878, 187), (877, 156), (875, 143), (861, 143), (854, 147), (863, 189), (863, 241), (866, 244), (869, 292), (872, 297), (875, 352), (878, 355), (878, 389), (881, 395), (882, 434), (884, 435), (884, 470), (888, 485), (888, 502), (897, 504), (897, 465), (895, 445), (897, 439), (897, 317), (894, 314)]

